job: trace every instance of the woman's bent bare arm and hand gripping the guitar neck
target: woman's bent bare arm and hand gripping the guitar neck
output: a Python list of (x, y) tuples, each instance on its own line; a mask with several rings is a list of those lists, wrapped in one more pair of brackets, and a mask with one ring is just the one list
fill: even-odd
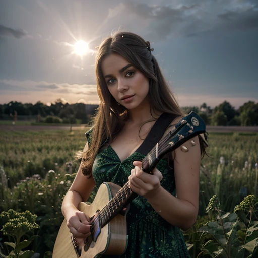
[[(192, 140), (196, 145), (192, 145)], [(196, 222), (199, 209), (201, 151), (198, 136), (183, 146), (188, 149), (187, 152), (183, 152), (181, 147), (174, 151), (176, 197), (160, 185), (160, 171), (155, 169), (152, 175), (147, 174), (140, 169), (139, 161), (133, 163), (136, 167), (131, 170), (129, 180), (132, 191), (146, 197), (160, 216), (185, 231)]]

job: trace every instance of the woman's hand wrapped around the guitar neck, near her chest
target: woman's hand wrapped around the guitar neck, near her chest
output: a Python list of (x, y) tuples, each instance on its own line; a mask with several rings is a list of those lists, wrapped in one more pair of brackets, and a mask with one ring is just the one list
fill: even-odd
[(128, 177), (130, 189), (140, 196), (151, 198), (161, 187), (162, 174), (157, 168), (152, 171), (152, 174), (145, 173), (141, 169), (141, 161), (134, 161), (133, 165), (135, 168), (131, 170), (131, 175)]

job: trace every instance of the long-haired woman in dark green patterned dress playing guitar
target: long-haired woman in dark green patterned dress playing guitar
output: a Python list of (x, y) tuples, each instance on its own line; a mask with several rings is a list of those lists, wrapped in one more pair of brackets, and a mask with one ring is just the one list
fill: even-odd
[(152, 174), (141, 170), (137, 160), (145, 156), (139, 150), (158, 117), (174, 114), (164, 135), (182, 118), (152, 51), (148, 41), (128, 32), (101, 43), (95, 66), (100, 105), (62, 212), (70, 232), (86, 238), (90, 225), (78, 204), (87, 201), (95, 185), (109, 181), (123, 186), (129, 180), (139, 196), (127, 214), (129, 239), (121, 257), (185, 258), (189, 254), (180, 229), (189, 229), (197, 218), (204, 148), (194, 137), (196, 146), (184, 143), (188, 152), (174, 150)]

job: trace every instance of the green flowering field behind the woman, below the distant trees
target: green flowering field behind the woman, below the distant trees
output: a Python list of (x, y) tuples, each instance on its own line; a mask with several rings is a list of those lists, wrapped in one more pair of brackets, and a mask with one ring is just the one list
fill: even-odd
[[(0, 131), (0, 211), (37, 214), (39, 237), (33, 250), (38, 253), (53, 248), (63, 220), (60, 205), (78, 170), (75, 153), (83, 149), (86, 131)], [(258, 134), (210, 133), (209, 144), (210, 157), (201, 166), (200, 217), (214, 194), (225, 212), (232, 212), (247, 195), (258, 196)]]

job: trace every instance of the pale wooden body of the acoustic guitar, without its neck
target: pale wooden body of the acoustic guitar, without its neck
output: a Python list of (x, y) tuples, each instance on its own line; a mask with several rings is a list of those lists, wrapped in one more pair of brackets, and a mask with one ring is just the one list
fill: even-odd
[[(84, 212), (88, 218), (92, 217), (97, 211), (101, 210), (116, 193), (120, 186), (114, 183), (103, 183), (96, 194), (92, 204), (88, 205), (81, 202), (79, 210)], [(92, 241), (88, 250), (84, 246), (81, 248), (81, 255), (78, 255), (72, 241), (72, 234), (67, 227), (64, 219), (59, 229), (54, 249), (53, 258), (94, 258), (98, 254), (121, 255), (127, 246), (126, 215), (117, 214), (107, 225), (100, 229), (101, 232), (96, 240)], [(87, 248), (86, 248), (87, 249)]]

